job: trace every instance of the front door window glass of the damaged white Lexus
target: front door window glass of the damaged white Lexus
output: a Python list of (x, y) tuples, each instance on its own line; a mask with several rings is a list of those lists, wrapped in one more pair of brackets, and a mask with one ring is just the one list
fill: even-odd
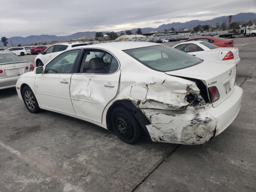
[(44, 73), (71, 73), (79, 52), (80, 49), (76, 49), (60, 54), (46, 65)]

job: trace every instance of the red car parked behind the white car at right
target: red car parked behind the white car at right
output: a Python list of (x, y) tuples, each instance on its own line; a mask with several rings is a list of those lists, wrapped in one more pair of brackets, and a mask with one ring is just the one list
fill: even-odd
[(201, 36), (201, 37), (193, 37), (186, 41), (206, 41), (212, 43), (218, 47), (234, 47), (234, 41), (228, 40), (220, 37), (211, 37), (211, 36)]

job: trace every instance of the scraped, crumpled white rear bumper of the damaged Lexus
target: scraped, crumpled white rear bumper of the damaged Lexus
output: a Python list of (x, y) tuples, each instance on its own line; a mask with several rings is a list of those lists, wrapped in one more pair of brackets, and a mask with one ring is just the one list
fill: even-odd
[(236, 118), (242, 101), (242, 88), (236, 86), (233, 93), (221, 104), (186, 110), (142, 109), (150, 120), (146, 125), (152, 141), (178, 144), (203, 144), (223, 132)]

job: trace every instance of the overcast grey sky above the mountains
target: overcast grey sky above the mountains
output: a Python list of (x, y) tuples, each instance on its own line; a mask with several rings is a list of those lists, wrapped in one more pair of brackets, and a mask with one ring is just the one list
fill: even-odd
[(120, 31), (256, 13), (256, 0), (0, 0), (0, 36)]

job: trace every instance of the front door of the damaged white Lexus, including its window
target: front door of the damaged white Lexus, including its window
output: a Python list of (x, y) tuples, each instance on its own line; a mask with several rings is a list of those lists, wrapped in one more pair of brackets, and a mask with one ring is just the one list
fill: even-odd
[(37, 74), (35, 90), (38, 104), (60, 113), (75, 114), (70, 99), (70, 80), (73, 65), (80, 49), (60, 54), (44, 67), (43, 74)]

